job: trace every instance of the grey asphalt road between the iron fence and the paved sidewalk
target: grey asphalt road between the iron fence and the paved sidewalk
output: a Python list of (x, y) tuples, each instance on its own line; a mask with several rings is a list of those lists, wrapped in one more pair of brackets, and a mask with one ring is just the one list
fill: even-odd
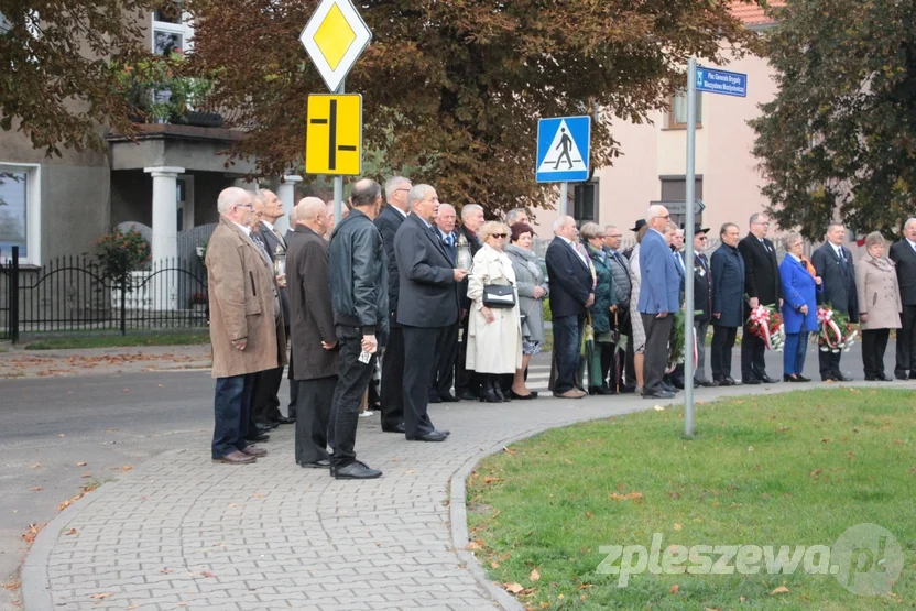
[[(843, 369), (861, 380), (858, 348), (843, 356)], [(891, 342), (888, 372), (893, 354)], [(738, 378), (740, 349), (734, 357)], [(782, 354), (768, 352), (766, 360), (770, 374), (781, 377)], [(814, 351), (806, 372), (817, 377)], [(115, 478), (163, 451), (209, 444), (212, 392), (208, 371), (0, 381), (0, 583), (17, 579), (26, 550), (21, 536), (29, 525), (52, 520), (57, 505), (85, 485)], [(287, 403), (286, 382), (281, 401)], [(0, 588), (0, 609), (11, 603)]]

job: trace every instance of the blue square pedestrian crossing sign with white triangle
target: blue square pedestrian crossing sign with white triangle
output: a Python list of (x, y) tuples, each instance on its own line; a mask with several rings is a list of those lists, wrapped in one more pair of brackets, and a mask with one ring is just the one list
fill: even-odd
[(537, 122), (538, 183), (588, 181), (591, 117), (557, 117)]

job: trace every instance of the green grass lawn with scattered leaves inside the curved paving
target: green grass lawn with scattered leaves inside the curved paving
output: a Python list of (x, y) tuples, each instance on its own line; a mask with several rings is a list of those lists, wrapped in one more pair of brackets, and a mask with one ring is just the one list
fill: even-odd
[[(696, 438), (685, 440), (681, 408), (642, 412), (550, 430), (484, 459), (468, 481), (470, 548), (493, 581), (522, 589), (516, 598), (530, 609), (916, 604), (916, 393), (761, 393), (700, 405), (696, 422)], [(804, 564), (770, 574), (753, 558), (745, 564), (762, 566), (756, 575), (643, 571), (625, 587), (619, 575), (597, 570), (608, 556), (600, 546), (651, 548), (655, 533), (663, 555), (695, 545), (778, 552), (832, 547), (862, 523), (887, 528), (903, 549), (890, 594), (855, 596), (838, 576), (808, 575)], [(706, 554), (711, 563), (721, 556)]]

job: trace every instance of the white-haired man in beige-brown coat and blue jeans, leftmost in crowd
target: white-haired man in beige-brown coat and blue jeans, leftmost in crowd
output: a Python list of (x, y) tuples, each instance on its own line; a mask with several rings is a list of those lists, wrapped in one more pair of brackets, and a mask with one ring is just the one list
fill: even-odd
[(286, 345), (273, 266), (250, 238), (252, 194), (230, 187), (219, 194), (219, 226), (207, 244), (210, 340), (216, 378), (212, 458), (253, 462), (266, 450), (249, 446), (246, 428), (254, 374), (285, 362)]

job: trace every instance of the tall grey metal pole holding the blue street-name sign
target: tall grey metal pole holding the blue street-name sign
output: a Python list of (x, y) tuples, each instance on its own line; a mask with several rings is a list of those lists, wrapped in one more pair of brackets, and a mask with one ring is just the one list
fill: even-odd
[[(687, 176), (686, 176), (686, 220), (684, 227), (684, 435), (694, 438), (694, 200), (696, 199), (694, 167), (696, 156), (697, 131), (697, 61), (687, 63)], [(689, 257), (688, 257), (689, 254)], [(705, 337), (696, 338), (699, 342)]]

